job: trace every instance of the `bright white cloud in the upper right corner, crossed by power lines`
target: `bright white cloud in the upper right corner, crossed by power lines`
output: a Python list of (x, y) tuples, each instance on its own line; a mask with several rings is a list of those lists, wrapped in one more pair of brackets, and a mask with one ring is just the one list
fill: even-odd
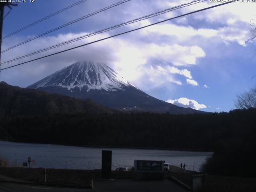
[[(156, 5), (164, 8), (177, 6), (182, 2), (187, 3), (187, 1), (174, 0), (172, 2), (161, 1), (156, 3)], [(201, 2), (188, 6), (186, 9), (177, 10), (176, 15), (212, 5), (216, 4)], [(246, 12), (244, 10), (246, 10)], [(165, 15), (160, 17), (166, 19)], [(250, 38), (250, 26), (248, 23), (251, 19), (255, 18), (255, 3), (231, 3), (198, 14), (192, 14), (189, 18), (189, 25), (186, 24), (187, 18), (182, 17), (175, 20), (176, 24), (158, 24), (145, 28), (143, 32), (145, 34), (154, 33), (156, 35), (168, 35), (172, 38), (175, 36), (175, 38), (178, 38), (179, 41), (182, 42), (191, 41), (192, 38), (195, 38), (194, 36), (200, 36), (201, 38), (216, 38), (216, 40), (221, 40), (226, 44), (227, 42), (237, 42), (240, 45), (244, 45), (244, 42)], [(199, 28), (197, 26), (193, 27), (194, 22), (198, 22), (196, 20), (205, 24), (205, 26)], [(184, 24), (186, 24), (186, 26), (184, 26)]]

